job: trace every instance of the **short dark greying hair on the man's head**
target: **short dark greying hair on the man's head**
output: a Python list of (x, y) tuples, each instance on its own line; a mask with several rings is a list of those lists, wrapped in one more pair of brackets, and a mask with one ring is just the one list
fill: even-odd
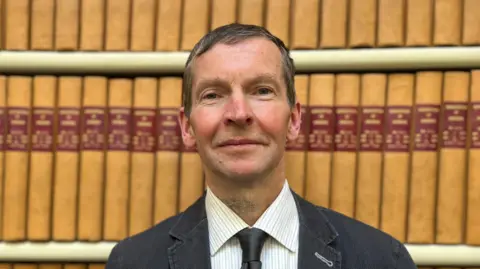
[(295, 65), (293, 59), (290, 57), (290, 51), (285, 46), (283, 41), (274, 36), (264, 27), (251, 24), (231, 23), (220, 26), (213, 31), (206, 34), (200, 41), (195, 44), (185, 64), (183, 72), (183, 101), (182, 105), (185, 108), (185, 115), (190, 116), (192, 107), (192, 80), (193, 71), (192, 63), (195, 58), (202, 55), (211, 49), (214, 45), (221, 44), (236, 44), (238, 42), (247, 40), (249, 38), (263, 37), (272, 41), (280, 50), (283, 63), (283, 76), (287, 88), (288, 103), (291, 107), (295, 105)]

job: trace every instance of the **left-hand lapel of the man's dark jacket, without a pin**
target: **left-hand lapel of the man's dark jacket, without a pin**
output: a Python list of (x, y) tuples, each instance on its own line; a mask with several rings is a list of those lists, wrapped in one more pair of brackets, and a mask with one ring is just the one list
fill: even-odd
[(171, 269), (211, 269), (204, 198), (190, 206), (170, 231), (177, 239), (168, 249)]

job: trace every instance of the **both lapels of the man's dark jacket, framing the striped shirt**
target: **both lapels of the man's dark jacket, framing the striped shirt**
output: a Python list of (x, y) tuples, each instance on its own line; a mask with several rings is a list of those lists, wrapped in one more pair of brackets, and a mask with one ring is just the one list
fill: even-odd
[[(298, 268), (340, 269), (341, 254), (331, 245), (338, 232), (321, 208), (292, 193), (300, 221)], [(177, 239), (168, 250), (170, 268), (211, 268), (205, 192), (180, 214), (170, 235)]]

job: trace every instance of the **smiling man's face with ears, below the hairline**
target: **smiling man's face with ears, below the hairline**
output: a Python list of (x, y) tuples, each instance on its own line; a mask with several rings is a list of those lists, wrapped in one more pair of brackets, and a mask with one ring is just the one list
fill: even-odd
[(253, 179), (278, 167), (300, 127), (282, 71), (280, 51), (263, 38), (217, 44), (196, 59), (190, 118), (182, 108), (180, 122), (207, 175)]

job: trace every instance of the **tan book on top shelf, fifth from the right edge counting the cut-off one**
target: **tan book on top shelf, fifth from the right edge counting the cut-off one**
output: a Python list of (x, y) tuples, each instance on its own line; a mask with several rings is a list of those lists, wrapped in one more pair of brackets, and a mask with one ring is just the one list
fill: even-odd
[(348, 46), (375, 47), (377, 30), (377, 0), (350, 0)]

